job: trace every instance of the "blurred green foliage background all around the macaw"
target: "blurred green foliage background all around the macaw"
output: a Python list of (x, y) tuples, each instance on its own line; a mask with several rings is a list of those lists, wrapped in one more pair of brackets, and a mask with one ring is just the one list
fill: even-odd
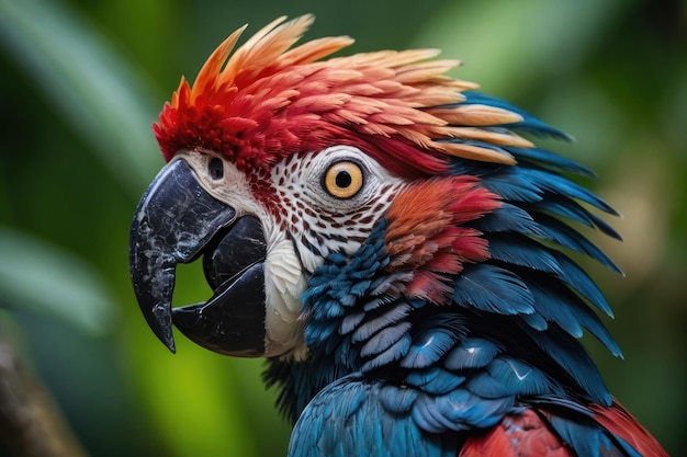
[[(290, 426), (259, 378), (178, 339), (156, 341), (128, 282), (135, 205), (162, 165), (150, 132), (244, 23), (313, 12), (308, 37), (351, 52), (439, 47), (455, 75), (577, 138), (626, 241), (624, 270), (587, 262), (613, 305), (619, 361), (590, 351), (613, 393), (687, 455), (685, 1), (0, 0), (0, 338), (52, 392), (92, 456), (279, 456)], [(548, 145), (550, 146), (550, 145)], [(180, 304), (210, 295), (181, 269)], [(0, 445), (0, 455), (3, 454)], [(7, 452), (7, 450), (4, 450)]]

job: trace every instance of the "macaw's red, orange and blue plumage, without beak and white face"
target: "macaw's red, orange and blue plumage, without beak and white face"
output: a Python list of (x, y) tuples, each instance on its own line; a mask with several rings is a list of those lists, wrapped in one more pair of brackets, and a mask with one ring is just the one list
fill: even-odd
[[(289, 455), (663, 456), (579, 342), (621, 354), (595, 312), (612, 316), (606, 298), (564, 251), (620, 272), (575, 226), (620, 236), (595, 214), (618, 213), (568, 176), (594, 173), (533, 142), (571, 137), (447, 76), (459, 62), (435, 49), (299, 45), (312, 22), (280, 18), (236, 47), (238, 30), (154, 125), (166, 160), (213, 151), (266, 194), (274, 168), (336, 145), (397, 180), (384, 210), (351, 219), (373, 221), (354, 248), (317, 245), (345, 240), (334, 224), (303, 241), (308, 354), (264, 375), (295, 422)], [(266, 213), (274, 230), (299, 217)]]

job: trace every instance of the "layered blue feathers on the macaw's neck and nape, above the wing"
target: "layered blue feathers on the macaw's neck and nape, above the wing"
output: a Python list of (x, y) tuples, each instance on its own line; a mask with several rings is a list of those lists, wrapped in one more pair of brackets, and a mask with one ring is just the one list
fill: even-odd
[[(464, 103), (522, 114), (522, 122), (507, 126), (511, 130), (567, 138), (506, 102), (468, 93)], [(594, 282), (558, 247), (619, 271), (565, 221), (618, 238), (578, 202), (615, 212), (561, 174), (590, 175), (584, 167), (543, 149), (503, 149), (516, 157), (517, 167), (462, 159), (452, 164), (453, 174), (478, 176), (503, 197), (502, 207), (470, 224), (484, 233), (492, 258), (447, 278), (453, 285), (452, 306), (403, 295), (413, 273), (384, 270), (384, 219), (356, 253), (330, 254), (314, 272), (302, 297), (311, 358), (296, 364), (271, 359), (264, 375), (268, 385), (280, 386), (285, 414), (295, 421), (322, 388), (350, 374), (432, 396), (464, 396), (465, 404), (478, 398), (480, 414), (473, 418), (465, 411), (458, 420), (465, 426), (487, 426), (523, 399), (610, 404), (598, 369), (578, 340), (586, 329), (620, 356), (590, 306), (611, 316), (610, 308)], [(484, 404), (491, 409), (485, 411)], [(424, 425), (429, 431), (435, 426)]]

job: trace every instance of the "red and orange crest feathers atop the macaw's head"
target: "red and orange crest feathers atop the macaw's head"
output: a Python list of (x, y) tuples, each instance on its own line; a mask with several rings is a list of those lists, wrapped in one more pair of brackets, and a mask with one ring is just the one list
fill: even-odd
[(515, 134), (478, 128), (518, 122), (517, 114), (446, 106), (476, 88), (446, 76), (458, 61), (430, 60), (433, 49), (319, 60), (352, 39), (325, 37), (293, 47), (313, 16), (284, 21), (270, 23), (232, 54), (246, 27), (239, 28), (210, 56), (193, 85), (181, 79), (153, 126), (166, 160), (182, 149), (209, 150), (238, 168), (261, 169), (294, 152), (350, 145), (395, 174), (414, 175), (446, 171), (446, 155), (514, 163), (492, 149), (438, 138), (529, 145)]

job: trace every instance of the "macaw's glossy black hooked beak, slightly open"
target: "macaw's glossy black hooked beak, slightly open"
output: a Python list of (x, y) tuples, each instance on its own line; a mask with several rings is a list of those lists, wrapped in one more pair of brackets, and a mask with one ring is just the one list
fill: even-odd
[[(214, 295), (176, 308), (178, 263), (205, 254)], [(267, 254), (258, 219), (207, 193), (183, 159), (165, 167), (138, 203), (129, 233), (129, 267), (138, 306), (158, 339), (174, 352), (174, 324), (203, 347), (230, 355), (264, 353)]]

